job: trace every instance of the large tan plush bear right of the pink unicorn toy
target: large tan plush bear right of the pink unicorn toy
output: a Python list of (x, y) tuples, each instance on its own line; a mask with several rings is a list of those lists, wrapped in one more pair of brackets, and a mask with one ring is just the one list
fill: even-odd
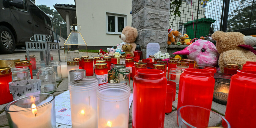
[(216, 31), (212, 34), (212, 39), (216, 40), (216, 49), (220, 54), (221, 72), (224, 71), (224, 65), (227, 63), (239, 64), (242, 69), (246, 61), (256, 61), (256, 53), (253, 53), (252, 48), (256, 44), (256, 37), (244, 36), (240, 32)]

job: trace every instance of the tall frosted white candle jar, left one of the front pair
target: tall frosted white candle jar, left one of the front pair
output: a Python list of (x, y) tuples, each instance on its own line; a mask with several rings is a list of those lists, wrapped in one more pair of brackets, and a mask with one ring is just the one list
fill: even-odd
[(98, 80), (85, 78), (68, 84), (73, 128), (97, 128)]

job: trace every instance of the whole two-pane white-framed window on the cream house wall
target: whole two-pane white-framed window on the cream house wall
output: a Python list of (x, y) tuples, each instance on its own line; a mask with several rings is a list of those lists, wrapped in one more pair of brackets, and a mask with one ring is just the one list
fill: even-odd
[(126, 15), (107, 13), (107, 34), (122, 34), (126, 26)]

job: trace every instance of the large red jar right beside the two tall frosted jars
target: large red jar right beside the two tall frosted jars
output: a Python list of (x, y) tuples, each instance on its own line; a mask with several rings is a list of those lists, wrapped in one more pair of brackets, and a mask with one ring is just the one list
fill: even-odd
[(166, 85), (163, 71), (137, 70), (133, 79), (133, 128), (164, 127)]

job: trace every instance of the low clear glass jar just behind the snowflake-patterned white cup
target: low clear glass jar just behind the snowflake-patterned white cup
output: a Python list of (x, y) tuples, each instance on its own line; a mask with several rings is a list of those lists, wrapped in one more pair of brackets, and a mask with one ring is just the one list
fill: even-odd
[(12, 79), (13, 82), (22, 81), (22, 80), (29, 80), (29, 67), (27, 66), (17, 66), (11, 67), (12, 70)]

